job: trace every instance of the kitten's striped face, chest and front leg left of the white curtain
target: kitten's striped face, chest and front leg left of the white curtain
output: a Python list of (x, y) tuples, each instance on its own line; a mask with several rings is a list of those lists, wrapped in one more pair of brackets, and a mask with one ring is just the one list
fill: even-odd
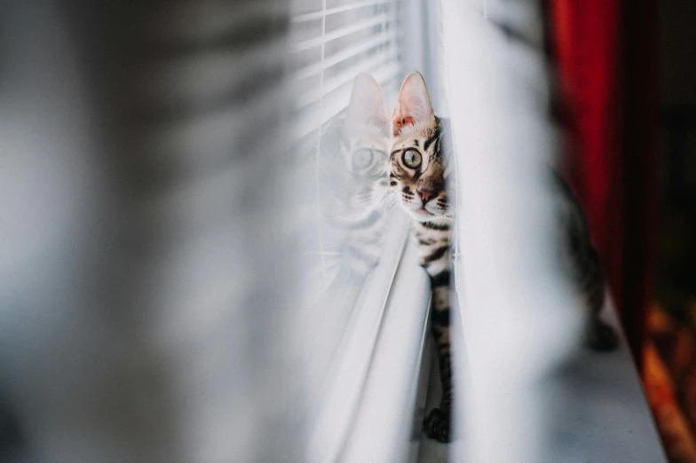
[[(390, 187), (413, 218), (412, 238), (420, 264), (431, 279), (431, 334), (442, 383), (439, 408), (425, 417), (423, 429), (427, 436), (447, 442), (452, 408), (449, 284), (453, 226), (446, 189), (449, 174), (445, 149), (447, 121), (432, 113), (423, 77), (417, 73), (408, 75), (401, 87), (392, 116), (392, 129)], [(407, 156), (415, 156), (420, 162), (409, 164)]]

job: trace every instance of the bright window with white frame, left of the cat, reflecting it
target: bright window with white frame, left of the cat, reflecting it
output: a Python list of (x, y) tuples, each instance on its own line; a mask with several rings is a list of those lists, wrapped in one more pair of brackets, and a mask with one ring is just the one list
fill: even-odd
[[(414, 66), (413, 57), (404, 58), (410, 49), (403, 25), (415, 23), (415, 4), (293, 5), (290, 137), (298, 160), (293, 184), (301, 190), (297, 241), (307, 269), (302, 325), (311, 461), (351, 460), (367, 447), (375, 450), (373, 459), (399, 461), (405, 446), (397, 440), (412, 431), (428, 280), (407, 247), (407, 217), (399, 206), (389, 208), (386, 158), (384, 187), (360, 186), (351, 163), (361, 147), (373, 149), (368, 156), (389, 149), (399, 87)], [(362, 111), (352, 111), (355, 95), (370, 91), (356, 79), (361, 73), (374, 77), (384, 94), (382, 137), (363, 123)], [(365, 99), (377, 105), (380, 97)], [(356, 134), (355, 123), (370, 135)], [(357, 198), (361, 187), (372, 195), (366, 206)], [(384, 413), (375, 416), (377, 410)]]

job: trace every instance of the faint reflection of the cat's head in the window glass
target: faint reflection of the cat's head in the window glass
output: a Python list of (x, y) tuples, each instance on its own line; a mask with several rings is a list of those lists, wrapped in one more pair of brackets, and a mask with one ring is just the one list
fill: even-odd
[(326, 181), (321, 200), (331, 215), (359, 219), (383, 204), (391, 139), (391, 116), (379, 84), (371, 75), (358, 75), (344, 118), (321, 138), (320, 171)]

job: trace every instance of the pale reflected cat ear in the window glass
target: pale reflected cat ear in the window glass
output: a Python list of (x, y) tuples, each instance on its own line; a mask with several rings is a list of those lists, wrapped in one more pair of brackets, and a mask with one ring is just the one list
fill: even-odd
[(374, 127), (384, 136), (391, 136), (392, 118), (384, 100), (382, 89), (372, 75), (361, 73), (352, 84), (351, 103), (346, 122), (358, 129), (366, 125)]

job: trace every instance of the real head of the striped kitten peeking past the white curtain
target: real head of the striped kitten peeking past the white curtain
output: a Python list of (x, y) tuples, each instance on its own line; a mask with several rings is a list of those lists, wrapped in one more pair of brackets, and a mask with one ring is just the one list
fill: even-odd
[(401, 206), (420, 222), (449, 216), (443, 122), (432, 111), (423, 76), (407, 75), (392, 115), (389, 183)]

